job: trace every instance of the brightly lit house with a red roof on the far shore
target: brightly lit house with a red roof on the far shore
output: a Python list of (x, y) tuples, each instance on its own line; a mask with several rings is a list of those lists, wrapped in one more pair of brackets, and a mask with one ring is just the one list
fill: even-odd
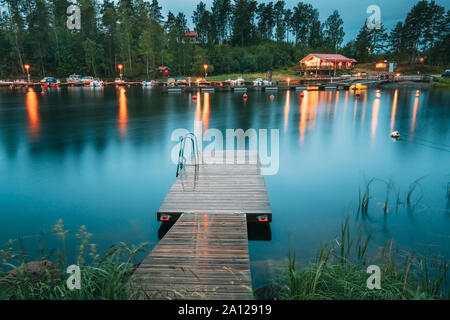
[(357, 61), (341, 54), (311, 53), (300, 61), (303, 71), (350, 70)]

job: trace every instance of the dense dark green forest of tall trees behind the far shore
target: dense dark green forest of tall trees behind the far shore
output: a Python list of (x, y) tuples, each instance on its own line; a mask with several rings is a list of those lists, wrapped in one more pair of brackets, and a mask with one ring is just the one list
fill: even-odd
[[(81, 30), (66, 26), (67, 8), (81, 9)], [(324, 21), (310, 4), (285, 1), (200, 2), (192, 17), (161, 13), (157, 0), (0, 0), (0, 78), (72, 73), (114, 77), (123, 64), (128, 78), (157, 75), (167, 65), (176, 75), (264, 72), (292, 67), (313, 51), (342, 53), (359, 62), (379, 58), (449, 63), (450, 11), (418, 1), (394, 29), (369, 30), (365, 16), (356, 39), (344, 44), (344, 21), (334, 11)], [(199, 42), (185, 39), (188, 20)]]

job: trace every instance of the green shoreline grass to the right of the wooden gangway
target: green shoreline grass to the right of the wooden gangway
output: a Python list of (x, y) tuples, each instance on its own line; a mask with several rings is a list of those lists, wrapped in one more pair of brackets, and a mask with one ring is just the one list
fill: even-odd
[[(289, 300), (401, 300), (449, 299), (448, 263), (438, 255), (427, 259), (404, 257), (399, 264), (394, 256), (393, 240), (385, 245), (377, 259), (367, 257), (370, 235), (350, 235), (348, 219), (340, 236), (324, 246), (314, 262), (297, 268), (295, 253), (289, 256), (286, 276), (280, 280), (276, 299)], [(369, 290), (367, 268), (381, 269), (381, 288)]]

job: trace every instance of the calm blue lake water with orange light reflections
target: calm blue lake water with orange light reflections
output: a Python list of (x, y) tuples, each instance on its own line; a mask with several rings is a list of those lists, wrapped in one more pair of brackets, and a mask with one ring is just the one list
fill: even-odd
[[(100, 250), (118, 241), (155, 245), (156, 212), (175, 179), (171, 134), (192, 131), (201, 118), (205, 129), (280, 132), (279, 171), (266, 176), (270, 241), (249, 243), (255, 285), (277, 274), (289, 249), (308, 261), (349, 214), (373, 232), (374, 246), (394, 238), (401, 250), (449, 257), (450, 90), (273, 95), (249, 92), (244, 101), (212, 93), (194, 101), (142, 88), (1, 89), (0, 245), (20, 237), (37, 252), (37, 235), (60, 218), (72, 235), (86, 225)], [(391, 181), (395, 191), (385, 215), (386, 184), (374, 182), (362, 219), (358, 188), (372, 178)], [(419, 178), (414, 208), (396, 210), (397, 192), (404, 202)]]

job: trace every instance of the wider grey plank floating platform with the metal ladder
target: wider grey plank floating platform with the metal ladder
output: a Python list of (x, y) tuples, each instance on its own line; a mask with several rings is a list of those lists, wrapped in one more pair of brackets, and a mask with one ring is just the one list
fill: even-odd
[(272, 211), (256, 152), (202, 154), (200, 165), (186, 168), (158, 210), (161, 215), (183, 212), (208, 214), (244, 212), (249, 221)]

